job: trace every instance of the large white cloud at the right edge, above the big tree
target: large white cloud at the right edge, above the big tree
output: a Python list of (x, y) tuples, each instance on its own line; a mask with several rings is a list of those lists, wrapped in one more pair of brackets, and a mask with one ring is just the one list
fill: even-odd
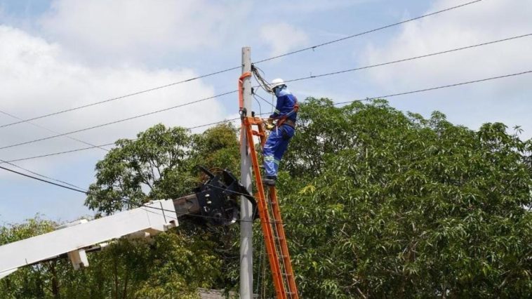
[[(429, 12), (458, 4), (463, 4), (463, 1), (435, 1)], [(528, 34), (532, 32), (530, 15), (531, 1), (517, 1), (512, 5), (508, 5), (507, 1), (481, 1), (440, 15), (408, 22), (387, 43), (368, 44), (359, 62), (360, 65), (372, 65)], [(368, 70), (368, 73), (380, 93), (409, 91), (531, 70), (531, 48), (532, 37), (525, 37), (378, 67)], [(521, 124), (526, 127), (526, 135), (530, 136), (532, 121), (524, 113), (532, 108), (524, 98), (524, 95), (532, 92), (532, 86), (528, 84), (530, 80), (531, 75), (524, 75), (453, 90), (413, 95), (409, 98), (424, 100), (413, 100), (408, 103), (410, 107), (399, 100), (397, 102), (399, 107), (414, 111), (425, 108), (427, 111), (443, 110), (450, 114), (451, 120), (473, 128), (488, 121), (504, 121), (510, 126)]]

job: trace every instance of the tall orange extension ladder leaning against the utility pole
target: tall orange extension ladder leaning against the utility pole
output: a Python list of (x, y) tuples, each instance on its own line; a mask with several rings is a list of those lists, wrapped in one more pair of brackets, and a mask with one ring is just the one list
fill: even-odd
[[(265, 122), (260, 117), (244, 117), (243, 120), (242, 131), (246, 134), (248, 150), (253, 165), (253, 174), (257, 187), (255, 199), (257, 199), (260, 225), (262, 234), (264, 234), (268, 259), (270, 260), (275, 293), (277, 298), (297, 299), (299, 298), (298, 288), (295, 286), (295, 277), (290, 254), (288, 253), (283, 220), (281, 219), (281, 209), (277, 201), (277, 191), (275, 187), (270, 186), (267, 192), (268, 197), (266, 198), (255, 142), (253, 141), (253, 136), (258, 136), (261, 148), (264, 147), (266, 142)], [(253, 131), (253, 126), (257, 126), (256, 131)]]

